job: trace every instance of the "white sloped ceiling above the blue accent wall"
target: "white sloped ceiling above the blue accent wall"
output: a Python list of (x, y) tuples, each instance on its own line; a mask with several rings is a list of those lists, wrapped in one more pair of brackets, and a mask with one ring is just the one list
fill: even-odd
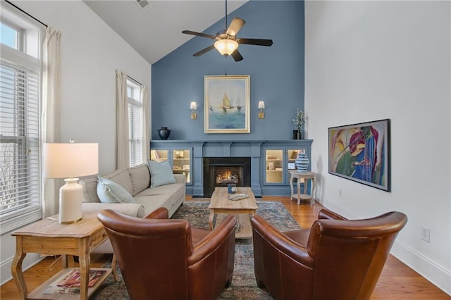
[[(151, 64), (193, 37), (182, 30), (202, 32), (223, 18), (226, 9), (223, 0), (149, 0), (144, 9), (137, 0), (83, 1)], [(228, 13), (246, 1), (229, 0)]]

